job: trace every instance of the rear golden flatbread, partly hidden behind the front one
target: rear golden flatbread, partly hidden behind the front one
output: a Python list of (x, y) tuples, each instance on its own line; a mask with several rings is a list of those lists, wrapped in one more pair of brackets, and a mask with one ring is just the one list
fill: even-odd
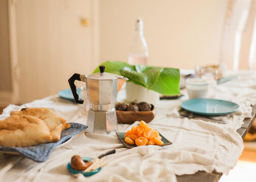
[(55, 112), (48, 108), (23, 108), (20, 111), (11, 112), (11, 116), (14, 115), (29, 115), (42, 119), (50, 129), (50, 133), (52, 136), (51, 142), (59, 141), (62, 130), (61, 124), (66, 122), (65, 119), (61, 118), (59, 115), (57, 115)]

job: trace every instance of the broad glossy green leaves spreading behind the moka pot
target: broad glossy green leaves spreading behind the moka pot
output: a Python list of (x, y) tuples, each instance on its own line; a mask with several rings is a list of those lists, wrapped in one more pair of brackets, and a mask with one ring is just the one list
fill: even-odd
[[(127, 77), (129, 81), (154, 90), (157, 93), (163, 95), (180, 94), (179, 69), (145, 65), (134, 66), (119, 61), (107, 61), (101, 65), (106, 66), (105, 72)], [(99, 67), (93, 71), (93, 73), (97, 72), (100, 72)]]

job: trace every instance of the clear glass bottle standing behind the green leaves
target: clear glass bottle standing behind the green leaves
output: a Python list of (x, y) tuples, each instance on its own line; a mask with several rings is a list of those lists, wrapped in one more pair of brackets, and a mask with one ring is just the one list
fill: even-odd
[(128, 63), (131, 65), (146, 65), (148, 57), (148, 47), (143, 34), (143, 20), (137, 18), (135, 23), (134, 38), (131, 43)]

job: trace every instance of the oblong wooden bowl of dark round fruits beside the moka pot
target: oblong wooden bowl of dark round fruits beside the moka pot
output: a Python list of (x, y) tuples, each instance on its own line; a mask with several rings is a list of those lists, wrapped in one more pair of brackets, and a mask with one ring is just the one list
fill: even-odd
[[(127, 107), (124, 106), (124, 104), (119, 104), (122, 108), (126, 108), (124, 111), (118, 110), (118, 104), (116, 105), (116, 116), (117, 116), (117, 122), (121, 124), (133, 124), (135, 121), (145, 121), (146, 123), (152, 121), (154, 119), (154, 116), (156, 114), (156, 109), (152, 104), (149, 104), (150, 110), (149, 111), (140, 111), (141, 107), (138, 107), (142, 105), (141, 103), (130, 103), (127, 105)], [(131, 106), (134, 105), (134, 106)], [(143, 103), (145, 106), (145, 102)], [(132, 108), (132, 109), (131, 109)], [(133, 109), (134, 108), (134, 109)], [(135, 110), (135, 111), (131, 111)]]

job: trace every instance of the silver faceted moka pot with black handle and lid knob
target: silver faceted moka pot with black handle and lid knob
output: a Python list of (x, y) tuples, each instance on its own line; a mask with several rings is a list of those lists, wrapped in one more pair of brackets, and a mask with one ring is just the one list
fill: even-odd
[(76, 103), (83, 104), (76, 92), (75, 80), (86, 84), (89, 111), (86, 125), (87, 132), (108, 134), (117, 131), (115, 103), (117, 93), (127, 78), (105, 72), (105, 66), (100, 66), (100, 72), (94, 74), (75, 73), (69, 84)]

